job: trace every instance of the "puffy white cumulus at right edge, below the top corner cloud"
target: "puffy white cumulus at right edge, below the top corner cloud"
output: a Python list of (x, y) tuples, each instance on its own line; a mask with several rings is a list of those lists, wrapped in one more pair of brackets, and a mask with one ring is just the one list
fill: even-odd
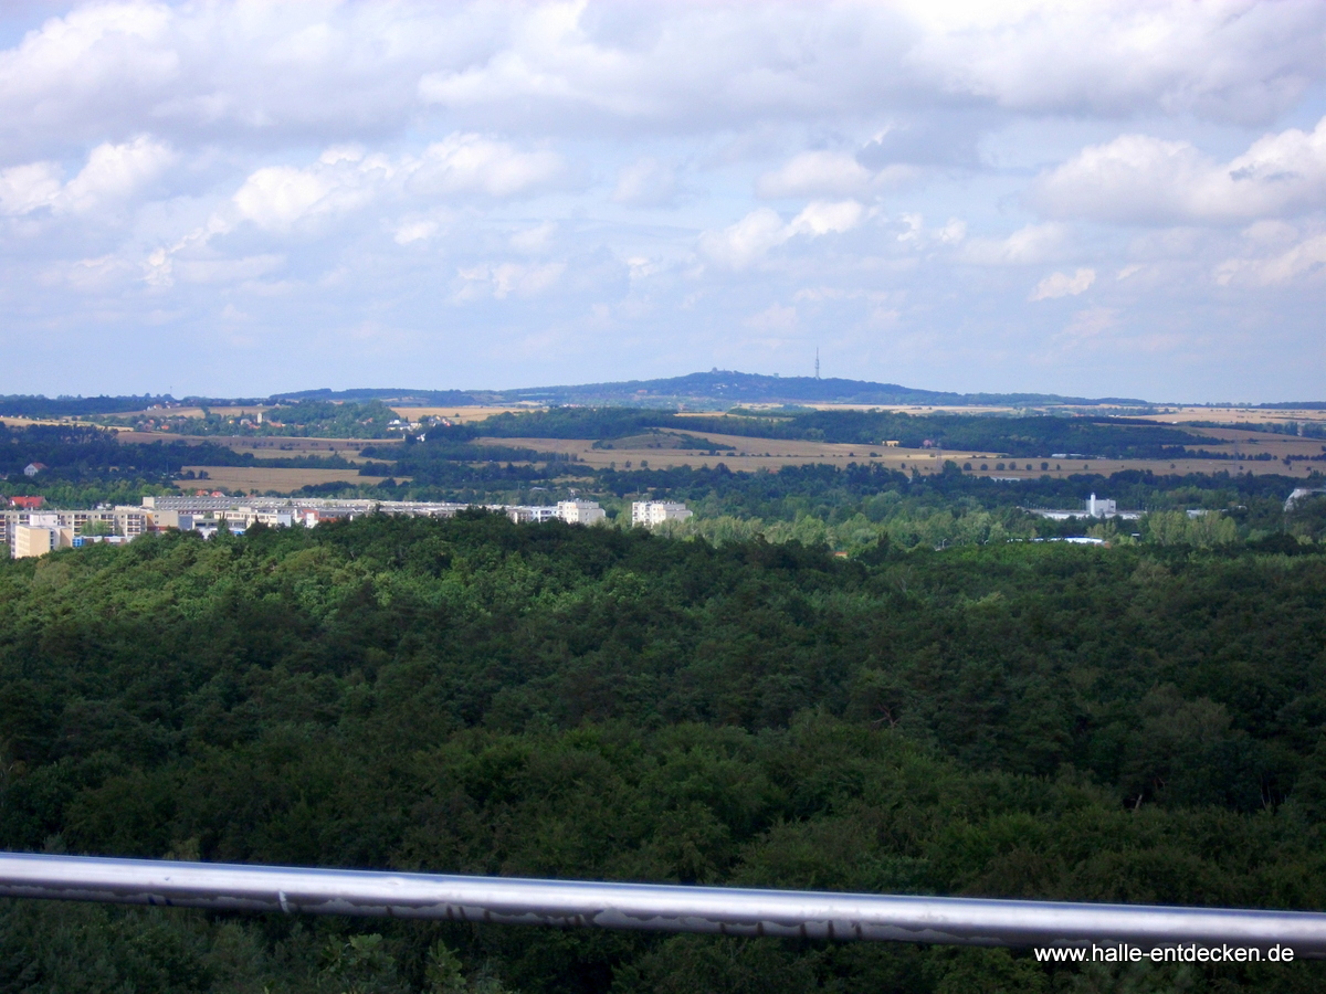
[(1326, 204), (1326, 118), (1217, 162), (1185, 140), (1130, 134), (1041, 176), (1030, 196), (1057, 217), (1123, 224), (1221, 224)]

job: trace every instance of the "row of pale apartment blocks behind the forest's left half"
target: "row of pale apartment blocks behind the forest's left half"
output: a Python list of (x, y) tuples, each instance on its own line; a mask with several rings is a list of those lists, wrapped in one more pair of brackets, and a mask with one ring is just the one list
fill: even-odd
[[(517, 524), (565, 521), (594, 525), (607, 513), (597, 501), (560, 501), (549, 505), (450, 504), (434, 501), (369, 501), (288, 497), (145, 497), (141, 508), (95, 508), (93, 510), (50, 510), (40, 501), (0, 510), (0, 546), (13, 558), (45, 555), (94, 542), (130, 542), (147, 531), (179, 529), (210, 538), (220, 529), (243, 534), (253, 525), (268, 527), (314, 527), (325, 521), (341, 521), (365, 514), (407, 514), (450, 518), (467, 508), (507, 514)], [(631, 525), (654, 527), (664, 521), (684, 521), (691, 512), (684, 504), (636, 501), (631, 505)]]

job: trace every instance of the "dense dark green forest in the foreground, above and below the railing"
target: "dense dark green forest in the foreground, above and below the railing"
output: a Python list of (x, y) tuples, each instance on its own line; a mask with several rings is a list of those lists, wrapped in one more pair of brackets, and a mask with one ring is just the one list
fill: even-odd
[[(1326, 554), (1284, 534), (841, 558), (465, 513), (0, 562), (12, 850), (1321, 909), (1323, 726)], [(0, 903), (0, 991), (1309, 991), (1322, 969)]]

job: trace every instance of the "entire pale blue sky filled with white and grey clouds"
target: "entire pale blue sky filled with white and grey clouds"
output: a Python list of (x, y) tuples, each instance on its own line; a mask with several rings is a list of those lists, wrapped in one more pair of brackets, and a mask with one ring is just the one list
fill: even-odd
[(1326, 4), (0, 7), (0, 392), (1326, 399)]

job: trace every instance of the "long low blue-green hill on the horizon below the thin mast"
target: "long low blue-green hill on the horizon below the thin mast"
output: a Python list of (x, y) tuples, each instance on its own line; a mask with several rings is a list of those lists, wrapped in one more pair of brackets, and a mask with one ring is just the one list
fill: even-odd
[(1040, 404), (1147, 406), (1135, 398), (1077, 398), (1058, 394), (953, 394), (918, 390), (896, 383), (814, 376), (762, 376), (754, 372), (709, 370), (668, 379), (633, 379), (617, 383), (585, 383), (520, 390), (305, 390), (277, 394), (273, 400), (392, 400), (422, 406), (520, 403), (625, 404), (631, 407), (678, 406), (727, 408), (736, 404)]

